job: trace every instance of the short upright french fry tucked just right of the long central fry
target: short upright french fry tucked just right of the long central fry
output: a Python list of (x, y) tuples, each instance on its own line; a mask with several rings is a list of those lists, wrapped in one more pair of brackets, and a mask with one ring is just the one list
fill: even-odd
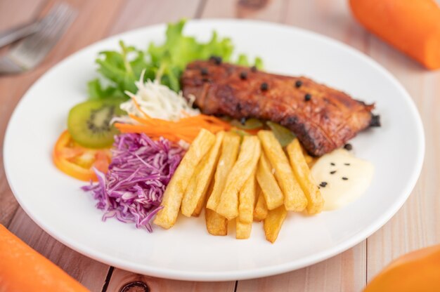
[(255, 171), (247, 178), (238, 193), (238, 219), (241, 223), (252, 223), (255, 206)]

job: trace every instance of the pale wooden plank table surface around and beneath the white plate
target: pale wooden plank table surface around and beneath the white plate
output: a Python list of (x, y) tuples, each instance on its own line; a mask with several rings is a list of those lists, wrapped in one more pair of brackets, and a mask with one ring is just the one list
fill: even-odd
[[(55, 2), (0, 0), (0, 31), (44, 15)], [(91, 291), (122, 291), (129, 283), (134, 284), (124, 291), (146, 291), (145, 284), (150, 291), (361, 291), (390, 260), (440, 242), (440, 224), (436, 224), (440, 222), (440, 72), (423, 69), (365, 32), (351, 17), (347, 0), (67, 2), (79, 15), (46, 60), (31, 72), (0, 77), (0, 223)], [(273, 277), (216, 283), (157, 279), (119, 270), (67, 248), (33, 223), (14, 199), (3, 166), (4, 132), (18, 100), (48, 68), (80, 48), (112, 34), (183, 17), (252, 18), (302, 27), (349, 44), (392, 72), (415, 100), (427, 145), (420, 179), (392, 220), (361, 244), (316, 265)]]

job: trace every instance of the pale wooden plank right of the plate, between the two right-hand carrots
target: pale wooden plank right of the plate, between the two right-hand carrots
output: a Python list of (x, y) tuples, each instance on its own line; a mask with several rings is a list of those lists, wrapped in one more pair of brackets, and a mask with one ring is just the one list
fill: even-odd
[(440, 241), (440, 72), (427, 71), (374, 36), (370, 55), (401, 81), (415, 101), (425, 127), (426, 152), (420, 179), (406, 204), (368, 238), (368, 281), (400, 255)]

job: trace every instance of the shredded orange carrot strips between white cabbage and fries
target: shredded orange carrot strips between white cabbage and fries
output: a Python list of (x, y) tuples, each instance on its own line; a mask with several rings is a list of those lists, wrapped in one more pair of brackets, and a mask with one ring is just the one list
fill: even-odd
[(163, 137), (173, 142), (178, 142), (179, 140), (193, 142), (202, 128), (212, 133), (227, 131), (231, 128), (231, 125), (226, 121), (213, 116), (207, 116), (206, 114), (184, 117), (179, 121), (155, 119), (143, 112), (139, 105), (136, 104), (136, 101), (134, 105), (143, 114), (143, 117), (129, 115), (138, 124), (115, 123), (116, 128), (122, 133), (145, 133), (153, 140)]

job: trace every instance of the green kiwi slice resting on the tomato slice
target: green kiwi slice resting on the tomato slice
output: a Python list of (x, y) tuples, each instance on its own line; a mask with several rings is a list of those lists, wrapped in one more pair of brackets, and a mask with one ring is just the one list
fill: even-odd
[(73, 140), (88, 148), (110, 147), (119, 133), (110, 121), (125, 112), (119, 109), (122, 100), (90, 100), (75, 105), (69, 112), (67, 128)]

